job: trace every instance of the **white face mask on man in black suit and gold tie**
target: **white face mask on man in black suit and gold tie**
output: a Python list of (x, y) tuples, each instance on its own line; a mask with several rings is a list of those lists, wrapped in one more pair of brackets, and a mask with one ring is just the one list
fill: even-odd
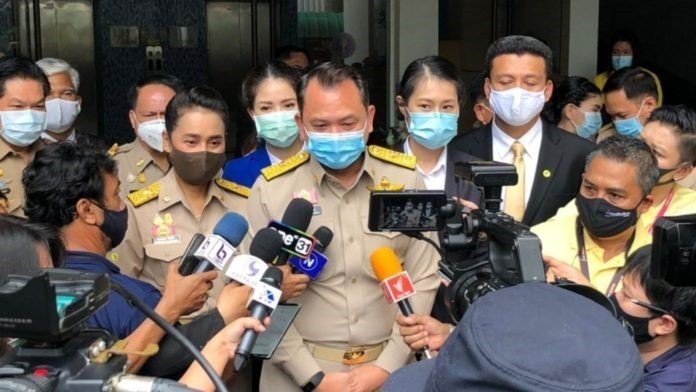
[(520, 87), (496, 91), (491, 88), (488, 100), (496, 116), (507, 124), (520, 126), (541, 113), (546, 103), (544, 90), (533, 92)]

